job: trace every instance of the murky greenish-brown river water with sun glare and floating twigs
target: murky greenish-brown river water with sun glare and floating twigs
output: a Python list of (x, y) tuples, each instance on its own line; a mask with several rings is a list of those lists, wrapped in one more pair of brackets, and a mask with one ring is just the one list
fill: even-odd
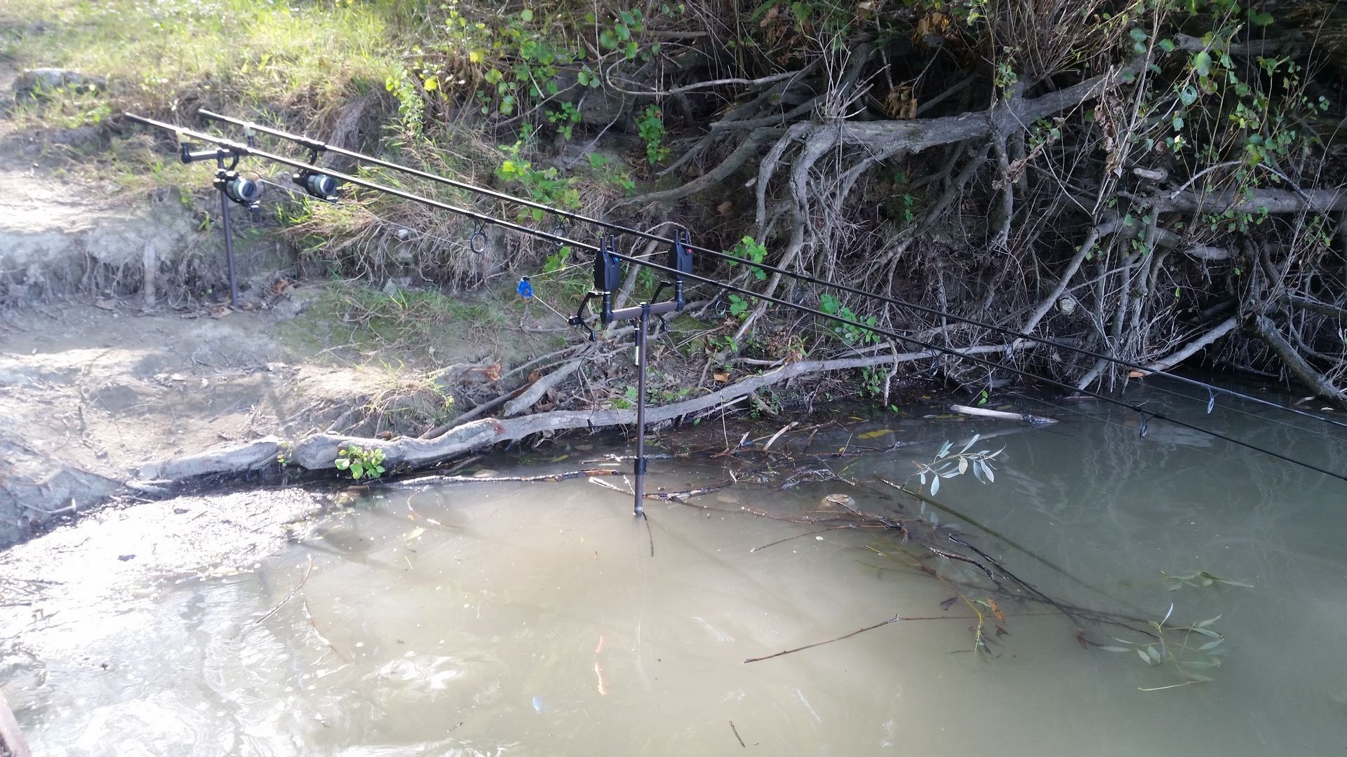
[[(1311, 420), (1137, 397), (1347, 469), (1342, 434)], [(792, 431), (773, 449), (793, 445), (793, 459), (713, 457), (738, 439), (719, 428), (669, 436), (668, 450), (703, 450), (653, 461), (652, 486), (741, 481), (700, 506), (649, 502), (649, 531), (629, 497), (585, 477), (374, 488), (241, 572), (4, 609), (34, 616), (9, 626), (23, 630), (4, 694), (35, 754), (57, 756), (1343, 753), (1347, 484), (1161, 420), (1142, 439), (1134, 414), (1090, 403), (1026, 409), (1064, 423), (842, 419), (810, 450), (873, 451), (810, 458), (810, 432)], [(880, 481), (975, 432), (974, 451), (1004, 447), (995, 481), (942, 481), (947, 511)], [(589, 442), (465, 473), (601, 467), (585, 461), (622, 451)], [(884, 450), (896, 442), (915, 443)], [(845, 481), (797, 482), (824, 469)], [(1175, 687), (1183, 669), (1145, 663), (1119, 626), (1009, 598), (1004, 620), (981, 605), (989, 645), (974, 651), (971, 605), (881, 555), (902, 548), (893, 536), (804, 535), (818, 527), (741, 509), (831, 517), (828, 494), (890, 519), (936, 513), (1045, 594), (1131, 625), (1171, 603), (1171, 626), (1219, 616), (1204, 626), (1219, 656), (1193, 651), (1215, 636), (1169, 637), (1189, 637), (1179, 656), (1197, 667), (1184, 669), (1211, 680)], [(924, 564), (983, 597), (958, 583), (970, 566)], [(1165, 582), (1197, 571), (1226, 582)], [(936, 620), (745, 663), (894, 614)]]

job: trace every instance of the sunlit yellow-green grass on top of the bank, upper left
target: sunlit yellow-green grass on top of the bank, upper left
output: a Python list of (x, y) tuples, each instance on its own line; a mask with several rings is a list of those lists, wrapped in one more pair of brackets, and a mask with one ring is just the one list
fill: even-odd
[[(20, 67), (55, 66), (108, 78), (106, 93), (57, 93), (32, 113), (47, 124), (96, 123), (120, 109), (154, 114), (191, 105), (322, 113), (383, 90), (401, 66), (411, 28), (395, 0), (8, 0), (0, 24)], [(35, 23), (42, 31), (34, 31)], [(187, 105), (187, 104), (191, 105)]]

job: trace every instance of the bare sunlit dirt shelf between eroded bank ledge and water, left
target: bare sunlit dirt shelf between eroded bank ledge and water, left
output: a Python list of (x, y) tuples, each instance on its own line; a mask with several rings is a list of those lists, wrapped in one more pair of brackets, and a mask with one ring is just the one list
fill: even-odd
[(377, 380), (358, 366), (288, 362), (268, 335), (284, 319), (275, 310), (139, 314), (119, 300), (8, 314), (0, 489), (22, 511), (0, 512), (0, 531), (12, 541), (69, 519), (145, 462), (303, 434)]

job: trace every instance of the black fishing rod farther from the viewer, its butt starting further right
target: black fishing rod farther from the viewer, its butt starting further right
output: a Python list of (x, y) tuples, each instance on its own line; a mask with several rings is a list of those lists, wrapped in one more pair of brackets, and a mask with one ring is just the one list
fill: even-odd
[[(610, 221), (602, 221), (602, 220), (598, 220), (598, 218), (590, 218), (590, 217), (582, 216), (579, 213), (572, 213), (570, 210), (564, 210), (564, 209), (560, 209), (560, 207), (554, 207), (551, 205), (546, 205), (546, 203), (536, 202), (536, 201), (532, 201), (532, 199), (516, 197), (516, 195), (512, 195), (512, 194), (508, 194), (508, 193), (502, 193), (502, 191), (497, 191), (497, 190), (488, 189), (488, 187), (480, 187), (477, 185), (471, 185), (471, 183), (467, 183), (467, 182), (461, 182), (461, 180), (457, 180), (457, 179), (450, 179), (447, 176), (442, 176), (442, 175), (438, 175), (438, 174), (431, 174), (428, 171), (422, 171), (422, 170), (418, 170), (418, 168), (412, 168), (409, 166), (403, 166), (400, 163), (393, 163), (391, 160), (384, 160), (381, 158), (374, 158), (372, 155), (365, 155), (362, 152), (356, 152), (356, 151), (352, 151), (352, 150), (345, 150), (342, 147), (337, 147), (334, 144), (327, 144), (325, 141), (315, 140), (315, 139), (308, 137), (308, 136), (290, 133), (290, 132), (286, 132), (286, 131), (282, 131), (282, 129), (276, 129), (276, 128), (272, 128), (272, 127), (267, 127), (267, 125), (263, 125), (263, 124), (257, 124), (257, 123), (253, 123), (253, 121), (245, 121), (242, 119), (234, 119), (232, 116), (225, 116), (225, 114), (221, 114), (221, 113), (216, 113), (213, 110), (199, 109), (199, 110), (197, 110), (197, 113), (199, 116), (202, 116), (203, 119), (209, 119), (209, 120), (213, 120), (213, 121), (220, 121), (220, 123), (225, 123), (225, 124), (232, 124), (232, 125), (236, 125), (236, 127), (241, 127), (241, 128), (244, 128), (245, 133), (249, 135), (249, 137), (251, 137), (252, 132), (261, 132), (261, 133), (271, 135), (271, 136), (275, 136), (275, 137), (279, 137), (279, 139), (294, 141), (295, 144), (299, 144), (299, 145), (302, 145), (302, 147), (304, 147), (304, 148), (307, 148), (310, 151), (310, 158), (311, 158), (310, 163), (318, 163), (318, 155), (322, 154), (322, 152), (333, 152), (333, 154), (337, 154), (337, 155), (345, 155), (348, 158), (353, 158), (356, 160), (360, 160), (361, 163), (369, 163), (372, 166), (380, 166), (380, 167), (384, 167), (384, 168), (391, 168), (393, 171), (401, 171), (404, 174), (408, 174), (408, 175), (412, 175), (412, 176), (419, 176), (419, 178), (423, 178), (423, 179), (427, 179), (427, 180), (431, 180), (431, 182), (435, 182), (435, 183), (440, 183), (440, 185), (457, 187), (457, 189), (461, 189), (461, 190), (471, 191), (471, 193), (475, 193), (475, 194), (480, 194), (480, 195), (484, 195), (484, 197), (490, 197), (490, 198), (494, 198), (494, 199), (501, 199), (501, 201), (511, 202), (511, 203), (515, 203), (515, 205), (523, 205), (525, 207), (532, 207), (535, 210), (543, 210), (546, 213), (550, 213), (550, 214), (560, 217), (560, 218), (567, 218), (570, 221), (575, 221), (575, 222), (581, 222), (581, 224), (590, 224), (590, 225), (594, 225), (594, 226), (598, 226), (598, 228), (602, 228), (602, 229), (607, 229), (610, 232), (617, 232), (617, 233), (622, 233), (622, 234), (630, 234), (630, 236), (640, 237), (640, 238), (644, 238), (644, 240), (648, 240), (648, 241), (656, 241), (656, 242), (664, 242), (664, 244), (674, 244), (675, 242), (675, 240), (671, 240), (671, 238), (667, 238), (667, 237), (661, 237), (661, 236), (653, 234), (651, 232), (643, 232), (640, 229), (625, 226), (622, 224), (614, 224), (614, 222), (610, 222)], [(1064, 350), (1071, 350), (1071, 352), (1075, 352), (1075, 353), (1078, 353), (1080, 356), (1084, 356), (1084, 357), (1091, 357), (1091, 358), (1095, 358), (1095, 360), (1103, 360), (1106, 362), (1111, 362), (1114, 365), (1119, 365), (1119, 366), (1127, 368), (1130, 370), (1142, 372), (1145, 376), (1165, 376), (1165, 377), (1172, 378), (1175, 381), (1180, 381), (1180, 383), (1184, 383), (1184, 384), (1188, 384), (1188, 385), (1192, 385), (1192, 387), (1199, 387), (1199, 388), (1206, 389), (1207, 391), (1207, 396), (1208, 396), (1208, 403), (1207, 403), (1207, 412), (1208, 414), (1215, 407), (1215, 395), (1219, 392), (1219, 393), (1223, 393), (1226, 396), (1235, 397), (1235, 399), (1239, 399), (1239, 400), (1245, 400), (1245, 401), (1249, 401), (1249, 403), (1254, 403), (1254, 404), (1259, 404), (1259, 405), (1263, 405), (1263, 407), (1276, 408), (1276, 409), (1280, 409), (1280, 411), (1284, 411), (1284, 412), (1289, 412), (1289, 414), (1294, 414), (1294, 415), (1300, 415), (1300, 416), (1304, 416), (1304, 418), (1311, 418), (1311, 419), (1315, 419), (1315, 420), (1319, 420), (1319, 422), (1323, 422), (1323, 423), (1338, 426), (1340, 428), (1347, 428), (1347, 422), (1336, 420), (1336, 419), (1332, 419), (1332, 418), (1325, 418), (1323, 415), (1317, 415), (1317, 414), (1313, 414), (1313, 412), (1307, 412), (1307, 411), (1303, 411), (1300, 408), (1294, 408), (1294, 407), (1284, 405), (1284, 404), (1280, 404), (1280, 403), (1274, 403), (1272, 400), (1266, 400), (1263, 397), (1258, 397), (1258, 396), (1254, 396), (1254, 395), (1247, 395), (1247, 393), (1243, 393), (1243, 392), (1238, 392), (1235, 389), (1228, 389), (1226, 387), (1218, 387), (1215, 384), (1210, 384), (1207, 381), (1202, 381), (1202, 380), (1197, 380), (1197, 378), (1189, 378), (1187, 376), (1180, 376), (1177, 373), (1169, 373), (1167, 369), (1157, 369), (1154, 366), (1142, 365), (1140, 362), (1133, 362), (1133, 361), (1123, 360), (1123, 358), (1119, 358), (1119, 357), (1109, 356), (1109, 354), (1105, 354), (1105, 353), (1100, 353), (1100, 352), (1095, 352), (1095, 350), (1091, 350), (1091, 349), (1087, 349), (1087, 348), (1076, 346), (1076, 345), (1072, 345), (1072, 343), (1068, 343), (1068, 342), (1061, 342), (1061, 341), (1052, 339), (1052, 338), (1048, 338), (1048, 337), (1036, 337), (1033, 334), (1028, 334), (1028, 333), (1024, 333), (1024, 331), (1016, 331), (1013, 329), (1006, 329), (1004, 326), (997, 326), (994, 323), (987, 323), (987, 322), (979, 321), (977, 318), (968, 318), (966, 315), (956, 315), (954, 312), (946, 312), (946, 311), (942, 311), (942, 310), (938, 310), (938, 308), (933, 308), (933, 307), (928, 307), (928, 306), (924, 306), (924, 304), (919, 304), (919, 303), (913, 303), (913, 302), (907, 302), (907, 300), (902, 300), (902, 299), (898, 299), (898, 298), (893, 298), (893, 296), (888, 296), (888, 295), (882, 295), (882, 294), (878, 294), (878, 292), (870, 292), (870, 291), (866, 291), (866, 290), (862, 290), (862, 288), (858, 288), (858, 287), (851, 287), (851, 286), (841, 284), (841, 283), (836, 283), (836, 282), (830, 282), (827, 279), (820, 279), (818, 276), (811, 276), (808, 273), (801, 273), (801, 272), (796, 272), (796, 271), (788, 271), (785, 268), (780, 268), (780, 267), (770, 265), (770, 264), (766, 264), (766, 263), (756, 263), (756, 261), (749, 260), (746, 257), (740, 257), (740, 256), (735, 256), (735, 255), (730, 255), (730, 253), (723, 252), (723, 251), (704, 248), (704, 246), (694, 245), (691, 242), (688, 242), (686, 246), (690, 251), (692, 251), (692, 252), (699, 252), (699, 253), (710, 255), (713, 257), (717, 257), (719, 260), (725, 260), (725, 261), (729, 261), (729, 263), (740, 263), (740, 264), (744, 264), (744, 265), (749, 265), (749, 267), (757, 268), (760, 271), (766, 271), (766, 272), (777, 273), (777, 275), (781, 275), (781, 276), (789, 276), (789, 277), (792, 277), (792, 279), (795, 279), (797, 282), (804, 282), (804, 283), (815, 284), (815, 286), (820, 286), (820, 287), (828, 287), (828, 288), (832, 288), (832, 290), (836, 290), (836, 291), (842, 291), (842, 292), (847, 292), (847, 294), (851, 294), (851, 295), (857, 295), (857, 296), (863, 296), (863, 298), (869, 298), (869, 299), (885, 302), (885, 303), (889, 303), (889, 304), (893, 304), (893, 306), (897, 306), (897, 307), (907, 307), (907, 308), (911, 308), (911, 310), (916, 310), (917, 312), (924, 312), (927, 315), (935, 315), (935, 317), (946, 318), (946, 319), (950, 319), (950, 321), (958, 321), (960, 323), (967, 323), (970, 326), (977, 326), (979, 329), (987, 329), (987, 330), (997, 331), (999, 334), (1004, 334), (1004, 335), (1008, 335), (1008, 337), (1013, 337), (1013, 338), (1017, 338), (1017, 339), (1029, 339), (1029, 341), (1033, 341), (1033, 342), (1037, 342), (1037, 343), (1041, 343), (1041, 345), (1047, 345), (1047, 346), (1052, 346), (1052, 348), (1057, 348), (1057, 349), (1064, 349)]]

